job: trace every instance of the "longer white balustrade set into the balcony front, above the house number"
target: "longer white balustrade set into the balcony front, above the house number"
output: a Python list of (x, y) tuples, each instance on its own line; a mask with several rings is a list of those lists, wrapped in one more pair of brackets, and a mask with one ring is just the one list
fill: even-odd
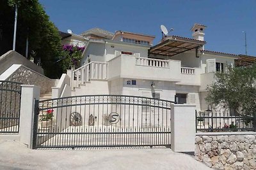
[(150, 67), (169, 67), (168, 60), (149, 59), (143, 57), (136, 57), (136, 65), (138, 66), (150, 66)]

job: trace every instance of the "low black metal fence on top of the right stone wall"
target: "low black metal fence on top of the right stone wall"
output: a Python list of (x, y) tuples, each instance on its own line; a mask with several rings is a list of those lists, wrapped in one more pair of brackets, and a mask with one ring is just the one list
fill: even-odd
[(196, 111), (196, 132), (256, 131), (255, 115), (225, 107)]

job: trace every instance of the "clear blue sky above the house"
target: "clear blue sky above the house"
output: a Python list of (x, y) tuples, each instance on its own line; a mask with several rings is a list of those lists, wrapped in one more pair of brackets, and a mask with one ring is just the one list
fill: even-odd
[(40, 0), (47, 15), (60, 31), (71, 29), (80, 34), (93, 27), (111, 32), (118, 30), (156, 36), (161, 39), (160, 25), (177, 36), (191, 38), (195, 23), (207, 25), (206, 50), (244, 54), (244, 33), (248, 55), (256, 56), (255, 0), (176, 0), (176, 1), (85, 1)]

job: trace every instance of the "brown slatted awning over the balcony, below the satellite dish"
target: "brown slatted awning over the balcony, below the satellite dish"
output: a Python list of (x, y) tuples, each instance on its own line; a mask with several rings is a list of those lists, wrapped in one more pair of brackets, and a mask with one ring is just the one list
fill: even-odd
[(173, 56), (203, 46), (206, 42), (180, 36), (167, 36), (163, 42), (152, 46), (150, 53)]

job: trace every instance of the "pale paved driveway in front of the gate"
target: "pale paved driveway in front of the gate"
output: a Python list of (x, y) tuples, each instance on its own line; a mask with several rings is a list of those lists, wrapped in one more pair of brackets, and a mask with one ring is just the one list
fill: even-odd
[(209, 169), (169, 148), (31, 150), (17, 141), (0, 141), (0, 169)]

